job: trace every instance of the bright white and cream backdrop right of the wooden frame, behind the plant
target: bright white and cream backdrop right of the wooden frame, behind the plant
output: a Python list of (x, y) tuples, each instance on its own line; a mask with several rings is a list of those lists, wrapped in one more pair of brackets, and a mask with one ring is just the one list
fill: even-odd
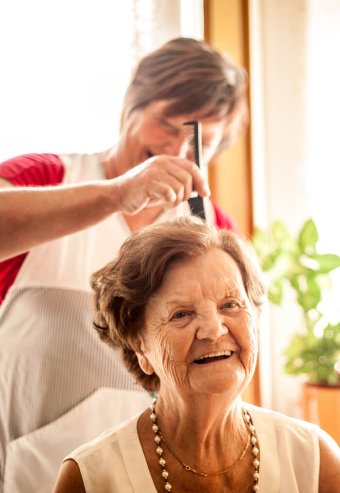
[[(340, 3), (250, 0), (249, 17), (255, 224), (280, 219), (296, 234), (312, 217), (320, 251), (340, 254)], [(327, 316), (339, 321), (340, 273), (333, 277), (333, 299), (325, 303)], [(299, 381), (283, 373), (282, 351), (303, 324), (292, 296), (283, 310), (270, 310), (262, 390), (264, 405), (300, 417)]]

